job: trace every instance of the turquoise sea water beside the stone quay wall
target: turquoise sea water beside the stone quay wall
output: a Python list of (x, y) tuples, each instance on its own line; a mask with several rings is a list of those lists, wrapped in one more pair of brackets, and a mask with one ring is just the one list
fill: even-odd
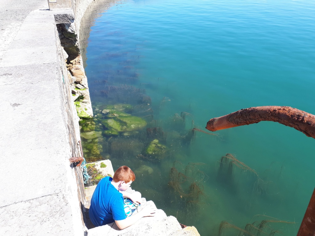
[[(149, 160), (144, 149), (154, 137), (144, 129), (99, 139), (101, 155), (114, 169), (130, 166), (137, 175), (133, 189), (202, 236), (218, 235), (222, 221), (244, 229), (271, 217), (295, 223), (268, 222), (264, 232), (296, 235), (314, 189), (314, 139), (273, 122), (196, 132), (191, 142), (185, 137), (193, 127), (207, 131), (210, 118), (252, 106), (315, 114), (314, 18), (313, 1), (112, 3), (95, 20), (86, 48), (95, 115), (103, 104), (132, 104), (130, 114), (163, 129), (155, 135), (168, 151)], [(118, 86), (117, 95), (108, 94), (109, 86)], [(229, 163), (220, 164), (226, 153), (251, 169), (234, 160), (229, 172)], [(180, 175), (177, 192), (169, 183), (172, 167), (187, 177)], [(199, 189), (194, 197), (191, 183)], [(221, 235), (240, 232), (225, 226)]]

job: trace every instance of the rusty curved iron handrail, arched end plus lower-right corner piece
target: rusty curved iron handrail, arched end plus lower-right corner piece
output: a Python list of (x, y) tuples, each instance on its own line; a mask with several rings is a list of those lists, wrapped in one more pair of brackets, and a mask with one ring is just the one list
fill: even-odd
[[(206, 129), (217, 131), (260, 121), (274, 121), (315, 138), (315, 115), (285, 106), (261, 106), (238, 110), (228, 115), (212, 118)], [(315, 188), (307, 206), (297, 236), (315, 236)]]

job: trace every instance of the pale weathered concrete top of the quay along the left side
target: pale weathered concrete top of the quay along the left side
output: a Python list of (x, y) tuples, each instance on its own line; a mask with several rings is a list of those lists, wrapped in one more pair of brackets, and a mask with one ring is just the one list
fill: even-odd
[(79, 153), (76, 110), (53, 12), (33, 2), (0, 3), (13, 16), (1, 26), (11, 35), (0, 43), (0, 235), (83, 235), (81, 170), (68, 162)]

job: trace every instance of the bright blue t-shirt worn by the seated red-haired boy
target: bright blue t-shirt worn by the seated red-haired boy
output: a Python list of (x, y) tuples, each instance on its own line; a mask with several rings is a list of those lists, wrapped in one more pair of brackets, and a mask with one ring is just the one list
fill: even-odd
[(111, 181), (112, 178), (109, 176), (101, 179), (92, 195), (89, 217), (95, 226), (126, 219), (123, 194)]

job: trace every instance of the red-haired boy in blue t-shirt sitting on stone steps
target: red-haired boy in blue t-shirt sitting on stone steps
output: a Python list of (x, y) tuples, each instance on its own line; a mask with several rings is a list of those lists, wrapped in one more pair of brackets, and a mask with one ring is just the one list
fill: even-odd
[[(135, 174), (128, 166), (120, 166), (113, 178), (105, 177), (100, 180), (92, 195), (89, 209), (89, 217), (95, 226), (116, 222), (118, 228), (124, 229), (142, 217), (154, 216), (152, 214), (155, 209), (150, 207), (144, 207), (137, 214), (133, 214), (141, 204), (139, 192), (125, 192), (133, 181)], [(131, 209), (130, 205), (133, 205)]]

